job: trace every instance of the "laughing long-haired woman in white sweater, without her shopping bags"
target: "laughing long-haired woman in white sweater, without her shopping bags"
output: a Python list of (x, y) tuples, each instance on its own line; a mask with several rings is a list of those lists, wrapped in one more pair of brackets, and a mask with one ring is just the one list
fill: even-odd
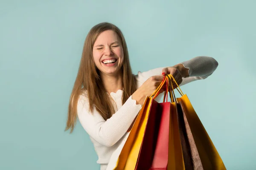
[[(71, 133), (76, 119), (84, 127), (105, 170), (111, 154), (150, 96), (172, 74), (178, 84), (205, 79), (218, 66), (212, 57), (195, 57), (166, 68), (133, 75), (122, 32), (111, 23), (99, 23), (88, 33), (81, 63), (70, 96), (66, 130)], [(161, 96), (158, 96), (158, 99)]]

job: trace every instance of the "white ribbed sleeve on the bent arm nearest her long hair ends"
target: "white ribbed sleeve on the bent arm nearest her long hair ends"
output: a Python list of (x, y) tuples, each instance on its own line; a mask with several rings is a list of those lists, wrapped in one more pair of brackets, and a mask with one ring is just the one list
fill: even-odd
[(127, 132), (141, 108), (142, 106), (137, 105), (130, 96), (124, 105), (105, 121), (95, 109), (93, 113), (89, 111), (87, 96), (80, 95), (77, 114), (79, 122), (91, 138), (104, 146), (111, 147)]

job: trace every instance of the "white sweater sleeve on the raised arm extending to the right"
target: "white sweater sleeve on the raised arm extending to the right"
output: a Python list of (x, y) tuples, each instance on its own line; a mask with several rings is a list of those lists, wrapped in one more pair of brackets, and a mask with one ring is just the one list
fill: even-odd
[[(179, 64), (183, 64), (185, 68), (189, 69), (189, 77), (184, 77), (180, 86), (195, 80), (206, 79), (218, 67), (218, 62), (214, 58), (207, 56), (194, 57)], [(151, 76), (161, 75), (163, 68), (165, 67), (154, 68), (145, 72), (139, 71), (137, 74), (138, 86), (142, 85)]]

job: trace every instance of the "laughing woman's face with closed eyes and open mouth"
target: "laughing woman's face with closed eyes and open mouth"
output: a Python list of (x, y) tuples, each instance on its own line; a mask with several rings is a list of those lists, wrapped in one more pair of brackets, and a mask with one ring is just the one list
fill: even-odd
[(93, 59), (101, 74), (119, 74), (124, 60), (122, 42), (115, 31), (99, 34), (93, 45)]

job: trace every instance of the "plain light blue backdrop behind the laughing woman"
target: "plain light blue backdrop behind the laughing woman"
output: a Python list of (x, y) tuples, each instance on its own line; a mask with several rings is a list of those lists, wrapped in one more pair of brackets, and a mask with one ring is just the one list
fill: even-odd
[(195, 56), (218, 69), (182, 86), (228, 170), (256, 169), (256, 1), (1, 0), (0, 169), (96, 170), (78, 122), (64, 132), (84, 39), (108, 21), (134, 74)]

